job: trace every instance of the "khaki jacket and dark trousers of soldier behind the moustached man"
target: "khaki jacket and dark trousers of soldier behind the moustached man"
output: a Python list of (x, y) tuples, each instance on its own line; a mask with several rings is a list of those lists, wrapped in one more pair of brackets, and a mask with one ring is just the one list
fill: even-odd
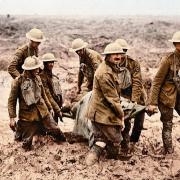
[[(128, 98), (133, 102), (137, 102), (140, 105), (145, 105), (146, 93), (142, 84), (143, 82), (139, 62), (132, 59), (130, 56), (126, 56), (124, 63), (121, 64), (121, 67), (126, 67), (129, 70), (132, 83), (130, 87), (121, 91), (121, 96)], [(125, 121), (125, 129), (122, 132), (122, 147), (127, 148), (129, 141), (138, 142), (141, 135), (141, 130), (143, 129), (144, 117), (144, 112), (141, 112), (135, 116), (131, 136), (129, 136), (131, 122), (130, 120)]]

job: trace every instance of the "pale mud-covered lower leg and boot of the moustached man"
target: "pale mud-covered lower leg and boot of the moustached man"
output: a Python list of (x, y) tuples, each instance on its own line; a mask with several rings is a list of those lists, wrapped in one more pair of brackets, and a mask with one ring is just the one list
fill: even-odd
[(92, 166), (96, 162), (98, 162), (100, 155), (102, 154), (102, 151), (105, 147), (105, 143), (102, 144), (101, 146), (98, 146), (97, 144), (93, 145), (92, 149), (88, 153), (86, 157), (86, 165), (87, 166)]

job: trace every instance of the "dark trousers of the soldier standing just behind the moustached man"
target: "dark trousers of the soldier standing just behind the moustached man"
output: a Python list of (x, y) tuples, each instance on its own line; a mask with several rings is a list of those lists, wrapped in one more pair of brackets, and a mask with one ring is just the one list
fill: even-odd
[(129, 142), (136, 143), (139, 141), (139, 137), (143, 129), (144, 118), (145, 118), (145, 112), (140, 112), (135, 116), (134, 126), (132, 129), (131, 136), (129, 135), (129, 132), (131, 130), (131, 120), (125, 120), (124, 122), (125, 128), (122, 132), (122, 136), (123, 136), (123, 141), (121, 142), (122, 148), (127, 149)]

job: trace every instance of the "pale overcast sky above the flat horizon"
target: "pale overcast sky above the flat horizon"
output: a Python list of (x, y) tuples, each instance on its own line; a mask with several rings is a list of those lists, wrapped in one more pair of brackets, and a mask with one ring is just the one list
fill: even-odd
[(180, 15), (180, 0), (0, 0), (0, 14)]

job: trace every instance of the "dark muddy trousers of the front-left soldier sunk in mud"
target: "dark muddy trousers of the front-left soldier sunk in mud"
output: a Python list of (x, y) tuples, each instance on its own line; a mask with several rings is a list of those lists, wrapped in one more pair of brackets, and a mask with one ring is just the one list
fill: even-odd
[(33, 136), (46, 133), (50, 133), (56, 140), (65, 141), (62, 131), (50, 115), (41, 121), (18, 120), (15, 140), (22, 141), (22, 147), (29, 150), (32, 146)]

